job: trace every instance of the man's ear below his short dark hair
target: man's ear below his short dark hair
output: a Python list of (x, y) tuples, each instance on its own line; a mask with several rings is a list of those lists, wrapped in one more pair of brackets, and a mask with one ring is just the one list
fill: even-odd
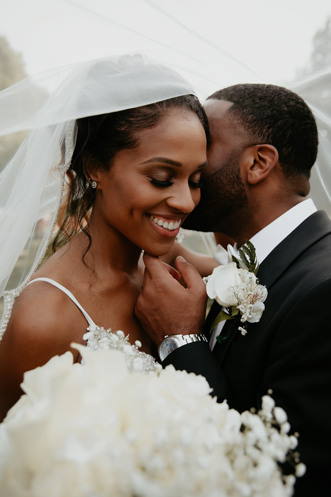
[(278, 152), (273, 145), (252, 145), (244, 152), (247, 182), (255, 185), (265, 179), (278, 164)]

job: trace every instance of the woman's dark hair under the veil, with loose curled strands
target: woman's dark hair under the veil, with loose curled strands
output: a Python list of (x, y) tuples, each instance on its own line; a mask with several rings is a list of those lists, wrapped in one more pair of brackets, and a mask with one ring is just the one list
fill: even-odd
[(137, 131), (155, 126), (169, 109), (178, 108), (195, 113), (203, 126), (207, 142), (209, 129), (206, 114), (195, 95), (182, 95), (133, 109), (77, 119), (77, 139), (71, 166), (67, 171), (66, 197), (59, 213), (60, 229), (53, 250), (62, 247), (80, 230), (89, 243), (82, 260), (91, 248), (88, 220), (95, 192), (87, 178), (94, 167), (109, 170), (117, 152), (138, 145)]

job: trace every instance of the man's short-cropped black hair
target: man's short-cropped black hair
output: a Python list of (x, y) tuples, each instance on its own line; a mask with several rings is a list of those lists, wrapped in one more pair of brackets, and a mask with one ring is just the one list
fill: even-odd
[(273, 145), (285, 177), (309, 179), (318, 149), (316, 121), (306, 102), (274, 84), (235, 84), (208, 99), (233, 102), (228, 112), (249, 140)]

